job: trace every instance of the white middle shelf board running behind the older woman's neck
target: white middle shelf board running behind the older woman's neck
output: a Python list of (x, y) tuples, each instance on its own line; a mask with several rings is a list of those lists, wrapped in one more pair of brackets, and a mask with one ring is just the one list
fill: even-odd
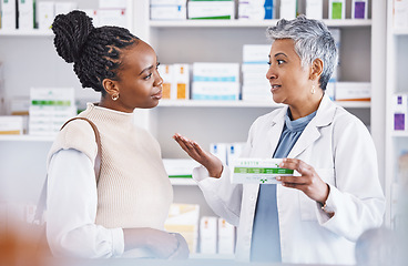
[[(337, 101), (343, 108), (367, 109), (371, 106), (367, 101)], [(280, 108), (284, 104), (271, 102), (248, 101), (197, 101), (197, 100), (162, 100), (159, 108)]]

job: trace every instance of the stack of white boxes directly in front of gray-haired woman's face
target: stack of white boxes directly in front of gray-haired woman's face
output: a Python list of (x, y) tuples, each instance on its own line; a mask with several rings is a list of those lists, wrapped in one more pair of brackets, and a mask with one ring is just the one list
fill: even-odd
[(243, 47), (243, 101), (273, 102), (271, 84), (266, 79), (269, 51), (269, 44), (245, 44)]

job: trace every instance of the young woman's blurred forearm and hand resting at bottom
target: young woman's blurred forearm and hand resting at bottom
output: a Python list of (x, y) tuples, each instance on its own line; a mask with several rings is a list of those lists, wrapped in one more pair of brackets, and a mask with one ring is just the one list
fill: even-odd
[(125, 228), (124, 248), (147, 248), (156, 258), (170, 258), (180, 248), (180, 241), (174, 234), (153, 228)]

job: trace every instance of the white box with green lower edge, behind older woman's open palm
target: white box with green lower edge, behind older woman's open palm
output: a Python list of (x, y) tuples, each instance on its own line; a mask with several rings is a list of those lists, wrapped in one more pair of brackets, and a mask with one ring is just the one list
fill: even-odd
[(170, 178), (191, 178), (193, 170), (200, 164), (192, 158), (163, 158)]

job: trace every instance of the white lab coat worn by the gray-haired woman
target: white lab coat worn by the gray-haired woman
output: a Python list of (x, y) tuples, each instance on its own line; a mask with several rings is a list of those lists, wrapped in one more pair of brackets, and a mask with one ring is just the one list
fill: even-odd
[[(252, 125), (242, 157), (272, 157), (285, 123), (287, 106), (258, 117)], [(324, 96), (288, 157), (312, 165), (330, 186), (327, 207), (303, 192), (277, 185), (283, 263), (355, 264), (355, 242), (368, 228), (378, 227), (385, 196), (378, 180), (376, 150), (366, 126)], [(213, 211), (238, 226), (236, 257), (249, 260), (258, 184), (231, 184), (224, 167), (220, 180), (203, 167), (193, 177)]]

